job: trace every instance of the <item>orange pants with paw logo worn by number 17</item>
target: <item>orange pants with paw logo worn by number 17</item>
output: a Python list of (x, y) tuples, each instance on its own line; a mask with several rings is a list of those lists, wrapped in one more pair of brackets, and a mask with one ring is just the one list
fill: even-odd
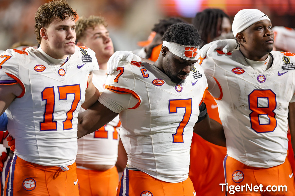
[(42, 166), (13, 156), (5, 181), (5, 195), (78, 196), (76, 163), (61, 167)]

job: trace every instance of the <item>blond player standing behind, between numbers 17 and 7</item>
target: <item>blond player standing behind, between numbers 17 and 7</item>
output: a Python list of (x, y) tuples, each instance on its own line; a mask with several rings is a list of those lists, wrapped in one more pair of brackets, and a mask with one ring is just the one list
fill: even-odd
[[(106, 20), (101, 16), (80, 16), (76, 25), (77, 45), (91, 48), (96, 54), (99, 70), (93, 71), (92, 82), (102, 92), (106, 83), (107, 62), (114, 53)], [(116, 195), (119, 175), (115, 164), (120, 127), (121, 122), (117, 116), (99, 130), (78, 140), (76, 165), (81, 196)], [(124, 157), (123, 169), (127, 164), (127, 155)]]

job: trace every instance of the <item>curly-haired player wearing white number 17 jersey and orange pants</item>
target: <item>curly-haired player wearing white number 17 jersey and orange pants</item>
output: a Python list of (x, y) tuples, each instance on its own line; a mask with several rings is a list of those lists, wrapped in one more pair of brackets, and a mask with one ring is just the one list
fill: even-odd
[(99, 67), (91, 49), (75, 46), (75, 19), (67, 1), (46, 3), (35, 15), (41, 46), (0, 54), (0, 114), (15, 138), (6, 195), (79, 195), (77, 117), (99, 97)]

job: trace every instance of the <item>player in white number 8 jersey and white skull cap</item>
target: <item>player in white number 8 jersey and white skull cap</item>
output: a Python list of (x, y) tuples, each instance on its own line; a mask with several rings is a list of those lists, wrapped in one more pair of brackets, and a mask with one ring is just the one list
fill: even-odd
[(200, 58), (226, 136), (226, 183), (287, 187), (287, 192), (244, 189), (234, 195), (294, 195), (293, 171), (286, 159), (288, 108), (295, 137), (294, 54), (272, 51), (271, 21), (259, 10), (239, 11), (232, 31), (239, 50), (217, 50)]

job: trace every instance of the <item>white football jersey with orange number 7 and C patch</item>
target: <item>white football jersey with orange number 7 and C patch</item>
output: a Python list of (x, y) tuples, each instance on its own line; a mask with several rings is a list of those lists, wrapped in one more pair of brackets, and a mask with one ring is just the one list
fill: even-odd
[(119, 63), (99, 101), (119, 113), (129, 167), (165, 182), (187, 179), (193, 127), (206, 88), (197, 63), (181, 85), (148, 63)]

